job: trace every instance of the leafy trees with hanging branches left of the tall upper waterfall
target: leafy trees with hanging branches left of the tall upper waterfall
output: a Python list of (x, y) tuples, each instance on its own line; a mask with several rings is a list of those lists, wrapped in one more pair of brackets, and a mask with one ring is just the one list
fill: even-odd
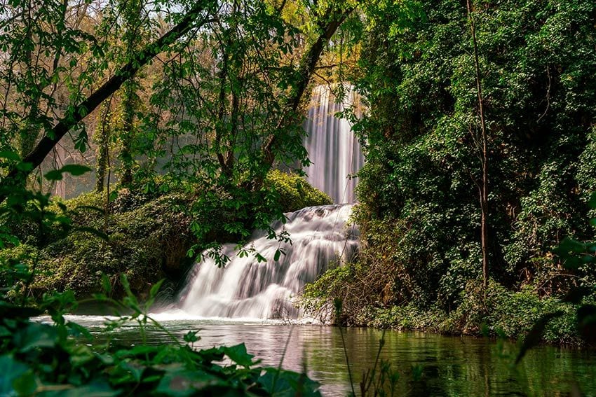
[[(7, 28), (2, 34), (2, 50), (8, 55), (3, 57), (2, 69), (8, 72), (0, 76), (7, 87), (0, 125), (17, 130), (14, 120), (31, 121), (22, 130), (30, 147), (20, 155), (32, 165), (16, 169), (7, 162), (2, 190), (25, 179), (74, 127), (80, 130), (74, 149), (84, 153), (89, 142), (88, 123), (83, 119), (102, 102), (110, 102), (104, 104), (104, 120), (95, 125), (103, 136), (96, 139), (101, 149), (100, 188), (106, 169), (112, 169), (109, 159), (118, 158), (123, 186), (132, 187), (133, 182), (165, 171), (212, 196), (229, 195), (222, 210), (236, 211), (240, 218), (225, 230), (229, 235), (245, 237), (247, 228), (266, 228), (273, 219), (283, 221), (280, 207), (272, 205), (273, 193), (263, 186), (264, 179), (273, 165), (308, 162), (300, 127), (304, 92), (323, 50), (354, 4), (91, 3), (71, 10), (55, 1), (41, 6), (15, 1), (1, 15), (3, 23), (13, 22), (18, 29)], [(304, 13), (304, 18), (295, 18), (296, 12)], [(168, 33), (161, 34), (164, 31)], [(74, 49), (67, 51), (60, 39), (71, 32), (76, 32), (69, 37)], [(149, 44), (141, 45), (144, 40)], [(28, 49), (24, 60), (19, 58), (17, 42)], [(70, 69), (62, 66), (65, 55)], [(154, 57), (160, 62), (151, 64)], [(144, 74), (147, 69), (151, 74)], [(41, 77), (20, 78), (33, 72)], [(67, 81), (68, 95), (57, 85), (62, 79)], [(19, 95), (32, 92), (43, 98), (45, 109), (37, 109), (41, 105), (35, 99), (36, 109), (19, 103), (13, 85), (19, 87)], [(121, 87), (123, 92), (116, 92)], [(112, 101), (120, 103), (112, 105)], [(120, 111), (109, 115), (109, 109)], [(27, 115), (29, 111), (35, 114)], [(12, 130), (6, 130), (2, 146), (9, 151), (18, 141)], [(36, 134), (25, 134), (33, 130)], [(114, 132), (109, 137), (108, 130)], [(42, 131), (43, 139), (37, 142)], [(114, 146), (119, 153), (110, 155)], [(54, 163), (65, 160), (66, 154), (60, 158), (59, 152), (55, 151)], [(41, 186), (43, 181), (39, 182)], [(0, 200), (5, 198), (1, 193)], [(252, 202), (263, 205), (257, 208)], [(197, 239), (214, 232), (201, 225), (191, 230)]]

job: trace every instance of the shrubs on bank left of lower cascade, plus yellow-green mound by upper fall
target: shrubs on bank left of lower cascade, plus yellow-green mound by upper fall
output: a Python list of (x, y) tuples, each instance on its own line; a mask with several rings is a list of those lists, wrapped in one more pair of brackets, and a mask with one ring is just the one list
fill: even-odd
[[(118, 274), (126, 274), (135, 294), (145, 297), (151, 286), (164, 277), (174, 286), (179, 282), (194, 259), (187, 257), (194, 242), (208, 247), (214, 242), (245, 238), (238, 230), (251, 231), (249, 214), (262, 205), (249, 202), (251, 207), (243, 214), (230, 206), (233, 197), (224, 192), (200, 190), (197, 186), (170, 189), (163, 179), (155, 179), (151, 185), (147, 193), (140, 188), (114, 190), (108, 214), (106, 199), (99, 193), (53, 200), (48, 211), (62, 213), (71, 226), (79, 229), (65, 235), (56, 231), (60, 227), (54, 222), (44, 229), (43, 244), (34, 222), (8, 218), (0, 224), (11, 225), (8, 229), (23, 244), (0, 250), (1, 256), (11, 264), (25, 261), (32, 265), (32, 258), (36, 258), (38, 274), (30, 288), (37, 298), (54, 290), (88, 297), (100, 291), (100, 274), (107, 274), (111, 280), (114, 296), (124, 293)], [(284, 212), (331, 203), (327, 195), (295, 174), (271, 172), (265, 186), (271, 192), (269, 206)], [(203, 228), (205, 235), (196, 240), (198, 228)], [(11, 296), (20, 292), (17, 289)]]

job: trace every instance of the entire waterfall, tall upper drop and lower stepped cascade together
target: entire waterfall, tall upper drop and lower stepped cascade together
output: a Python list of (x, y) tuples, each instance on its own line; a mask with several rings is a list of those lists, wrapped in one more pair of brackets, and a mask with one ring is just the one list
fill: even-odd
[[(337, 86), (336, 86), (337, 88)], [(334, 202), (353, 203), (355, 181), (348, 175), (358, 172), (364, 158), (348, 120), (335, 117), (357, 98), (351, 85), (344, 85), (344, 101), (336, 103), (329, 87), (313, 90), (313, 99), (304, 129), (304, 141), (313, 164), (306, 168), (308, 181), (330, 195)], [(179, 308), (199, 317), (296, 318), (299, 311), (292, 298), (304, 285), (315, 281), (334, 260), (351, 260), (358, 249), (358, 229), (348, 225), (350, 204), (310, 207), (286, 214), (285, 224), (272, 225), (279, 235), (287, 232), (291, 244), (268, 239), (257, 231), (244, 248), (254, 255), (238, 256), (236, 244), (226, 244), (222, 253), (231, 260), (224, 269), (207, 258), (196, 263), (180, 294)], [(278, 249), (285, 252), (274, 260)]]

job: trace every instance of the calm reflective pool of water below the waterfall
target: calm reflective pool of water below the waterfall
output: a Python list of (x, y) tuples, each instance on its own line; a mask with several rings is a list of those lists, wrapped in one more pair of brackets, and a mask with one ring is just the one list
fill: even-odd
[[(98, 340), (102, 318), (72, 316), (71, 321), (90, 326)], [(344, 347), (338, 328), (242, 321), (168, 320), (164, 326), (175, 335), (201, 329), (198, 348), (245, 342), (263, 365), (277, 366), (287, 352), (283, 367), (300, 371), (322, 384), (323, 396), (346, 396), (350, 391)], [(363, 371), (372, 368), (381, 331), (369, 328), (344, 330), (355, 389)], [(140, 342), (135, 326), (112, 333), (112, 340)], [(169, 337), (150, 329), (149, 343)], [(542, 346), (529, 351), (522, 363), (512, 363), (517, 349), (509, 342), (470, 337), (445, 337), (426, 333), (387, 331), (381, 358), (400, 373), (398, 396), (596, 396), (596, 352)], [(414, 373), (421, 372), (419, 379)], [(580, 394), (574, 391), (581, 391)]]

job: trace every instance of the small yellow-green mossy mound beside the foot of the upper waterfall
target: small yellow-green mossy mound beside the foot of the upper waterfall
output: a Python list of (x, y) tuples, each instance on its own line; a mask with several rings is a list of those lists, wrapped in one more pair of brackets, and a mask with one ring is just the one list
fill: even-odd
[(279, 195), (283, 211), (297, 211), (305, 207), (333, 204), (333, 200), (322, 191), (313, 188), (302, 176), (273, 170), (267, 174), (266, 183), (273, 186)]

